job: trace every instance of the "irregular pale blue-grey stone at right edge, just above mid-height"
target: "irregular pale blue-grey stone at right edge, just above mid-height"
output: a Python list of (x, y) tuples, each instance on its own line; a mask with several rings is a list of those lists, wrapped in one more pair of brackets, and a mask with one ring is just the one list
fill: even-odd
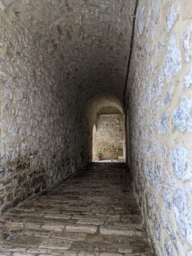
[(173, 127), (177, 127), (181, 132), (192, 132), (192, 102), (187, 98), (180, 100), (179, 108), (175, 109), (172, 118)]

